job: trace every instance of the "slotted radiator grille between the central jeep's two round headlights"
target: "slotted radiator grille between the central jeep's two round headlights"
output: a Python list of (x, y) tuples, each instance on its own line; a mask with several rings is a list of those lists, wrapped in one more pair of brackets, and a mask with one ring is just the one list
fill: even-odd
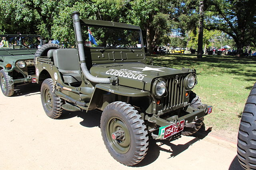
[[(170, 77), (166, 79), (168, 95), (164, 98), (164, 108), (178, 106), (184, 103), (184, 76)], [(177, 81), (178, 80), (178, 81)]]

